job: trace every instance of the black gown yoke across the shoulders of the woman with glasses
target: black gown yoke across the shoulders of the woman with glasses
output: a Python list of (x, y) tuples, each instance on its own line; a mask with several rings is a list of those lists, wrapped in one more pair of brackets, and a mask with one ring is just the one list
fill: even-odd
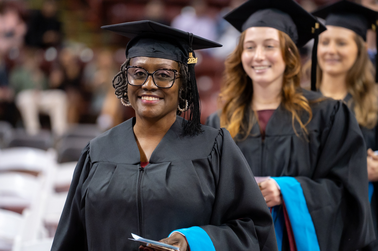
[[(220, 130), (204, 127), (203, 133), (198, 136), (183, 136), (183, 120), (180, 116), (176, 117), (152, 152), (150, 164), (204, 158), (211, 153)], [(134, 124), (135, 118), (129, 119), (92, 139), (91, 162), (138, 165), (140, 154), (135, 141)]]

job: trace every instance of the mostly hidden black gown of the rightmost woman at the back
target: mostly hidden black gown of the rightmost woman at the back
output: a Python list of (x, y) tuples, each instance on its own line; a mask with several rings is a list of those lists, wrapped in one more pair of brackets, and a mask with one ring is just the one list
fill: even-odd
[[(354, 113), (354, 103), (352, 99), (352, 95), (350, 93), (343, 100), (349, 109)], [(368, 129), (366, 127), (360, 126), (362, 135), (364, 136), (366, 148), (372, 148), (373, 151), (378, 150), (378, 125), (376, 125), (372, 129)], [(366, 251), (370, 250), (378, 250), (378, 182), (372, 182), (374, 187), (374, 192), (372, 195), (372, 200), (370, 203), (371, 210), (372, 210), (372, 217), (373, 217), (373, 225), (375, 230), (376, 240), (370, 243), (365, 249)]]

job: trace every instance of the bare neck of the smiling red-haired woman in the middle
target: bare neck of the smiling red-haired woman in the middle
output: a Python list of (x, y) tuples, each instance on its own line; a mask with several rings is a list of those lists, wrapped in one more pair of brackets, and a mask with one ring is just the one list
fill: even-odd
[(253, 83), (253, 110), (276, 110), (282, 99), (282, 81), (281, 77), (270, 84)]

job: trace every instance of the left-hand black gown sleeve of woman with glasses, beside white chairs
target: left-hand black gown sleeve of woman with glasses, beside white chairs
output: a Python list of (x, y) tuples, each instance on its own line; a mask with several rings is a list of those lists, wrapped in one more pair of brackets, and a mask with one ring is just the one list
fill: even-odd
[(51, 251), (88, 250), (82, 186), (91, 167), (88, 143), (77, 162)]

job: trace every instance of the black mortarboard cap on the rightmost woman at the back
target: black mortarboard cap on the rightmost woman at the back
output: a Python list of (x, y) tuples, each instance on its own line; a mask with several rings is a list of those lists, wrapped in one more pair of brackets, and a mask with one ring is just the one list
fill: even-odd
[[(346, 0), (318, 9), (313, 12), (313, 15), (325, 19), (325, 25), (339, 26), (354, 31), (364, 41), (366, 41), (367, 30), (376, 31), (378, 24), (378, 12)], [(376, 57), (375, 66), (377, 71), (378, 57)], [(375, 75), (375, 81), (378, 82), (378, 74)]]

